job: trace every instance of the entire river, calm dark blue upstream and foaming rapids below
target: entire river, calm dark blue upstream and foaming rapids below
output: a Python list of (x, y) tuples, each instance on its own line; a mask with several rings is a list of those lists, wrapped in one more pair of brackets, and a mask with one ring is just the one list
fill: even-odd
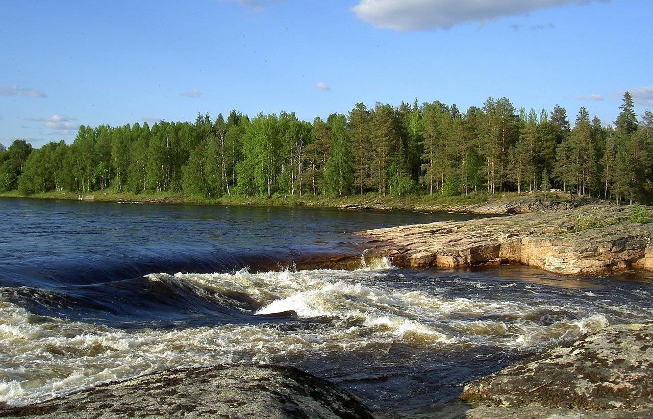
[(464, 217), (0, 199), (0, 401), (260, 362), (412, 409), (587, 331), (651, 317), (648, 273), (295, 268), (362, 252), (354, 231)]

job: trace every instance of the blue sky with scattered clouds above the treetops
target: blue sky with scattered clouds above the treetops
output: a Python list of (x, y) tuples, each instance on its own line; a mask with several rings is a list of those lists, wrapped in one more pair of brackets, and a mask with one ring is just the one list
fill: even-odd
[(653, 109), (651, 0), (0, 0), (0, 143), (80, 125), (300, 120), (488, 97)]

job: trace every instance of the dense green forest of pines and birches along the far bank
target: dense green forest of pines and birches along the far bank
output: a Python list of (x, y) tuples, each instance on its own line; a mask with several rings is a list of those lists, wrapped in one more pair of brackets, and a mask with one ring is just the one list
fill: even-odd
[(460, 112), (439, 101), (399, 107), (357, 103), (327, 120), (295, 113), (226, 120), (80, 126), (32, 148), (0, 144), (0, 192), (22, 195), (114, 190), (199, 197), (374, 194), (451, 197), (470, 193), (568, 193), (650, 204), (653, 113), (637, 118), (624, 93), (614, 125), (581, 107), (572, 124), (548, 112), (488, 99)]

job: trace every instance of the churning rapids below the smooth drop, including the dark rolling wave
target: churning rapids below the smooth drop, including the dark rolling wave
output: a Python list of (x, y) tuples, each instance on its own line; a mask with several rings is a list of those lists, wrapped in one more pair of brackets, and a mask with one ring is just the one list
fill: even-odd
[(402, 377), (429, 371), (429, 386), (451, 390), (618, 316), (650, 317), (645, 304), (605, 292), (429, 277), (387, 260), (0, 288), (0, 400), (20, 405), (160, 369), (240, 362), (298, 365), (363, 393), (370, 383), (398, 391)]

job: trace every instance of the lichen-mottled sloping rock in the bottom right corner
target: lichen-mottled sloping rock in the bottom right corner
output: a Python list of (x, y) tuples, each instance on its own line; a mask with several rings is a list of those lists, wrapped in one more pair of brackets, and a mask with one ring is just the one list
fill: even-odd
[(650, 413), (652, 371), (653, 324), (612, 326), (468, 384), (461, 398), (485, 408)]

